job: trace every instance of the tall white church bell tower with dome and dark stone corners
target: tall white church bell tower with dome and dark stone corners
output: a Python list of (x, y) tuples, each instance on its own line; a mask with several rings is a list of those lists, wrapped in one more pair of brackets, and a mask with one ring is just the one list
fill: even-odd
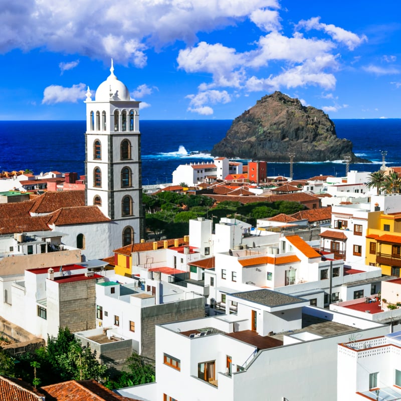
[[(112, 220), (110, 236), (121, 245), (143, 238), (139, 102), (110, 75), (86, 94), (85, 174), (86, 205), (96, 205)], [(116, 242), (118, 243), (118, 241)]]

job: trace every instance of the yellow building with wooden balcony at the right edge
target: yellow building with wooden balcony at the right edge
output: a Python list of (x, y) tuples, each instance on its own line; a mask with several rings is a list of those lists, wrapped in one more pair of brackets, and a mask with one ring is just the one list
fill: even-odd
[(383, 214), (378, 227), (368, 227), (366, 264), (381, 267), (384, 275), (400, 277), (401, 213)]

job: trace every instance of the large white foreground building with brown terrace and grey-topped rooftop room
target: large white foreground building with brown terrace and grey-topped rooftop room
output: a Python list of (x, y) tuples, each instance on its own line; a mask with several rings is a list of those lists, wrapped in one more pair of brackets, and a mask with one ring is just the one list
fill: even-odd
[(389, 333), (267, 289), (230, 300), (236, 314), (156, 326), (156, 382), (116, 392), (147, 401), (335, 401), (337, 344)]

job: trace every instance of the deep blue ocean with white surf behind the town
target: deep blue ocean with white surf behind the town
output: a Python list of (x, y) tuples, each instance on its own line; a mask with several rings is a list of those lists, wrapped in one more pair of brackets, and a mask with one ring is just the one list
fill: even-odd
[[(356, 155), (372, 163), (350, 164), (350, 170), (377, 171), (381, 151), (386, 165), (401, 166), (401, 119), (333, 120), (337, 136), (352, 141)], [(211, 160), (213, 145), (232, 120), (140, 121), (142, 185), (171, 182), (173, 170), (183, 163)], [(24, 170), (85, 172), (85, 121), (0, 121), (0, 171)], [(268, 175), (289, 176), (290, 164), (269, 163)], [(345, 175), (342, 160), (298, 162), (294, 178)]]

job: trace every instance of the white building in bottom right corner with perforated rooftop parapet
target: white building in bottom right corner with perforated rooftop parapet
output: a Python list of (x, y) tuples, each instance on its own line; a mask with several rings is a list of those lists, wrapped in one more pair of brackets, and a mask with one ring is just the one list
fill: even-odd
[(401, 399), (401, 332), (338, 344), (337, 401)]

